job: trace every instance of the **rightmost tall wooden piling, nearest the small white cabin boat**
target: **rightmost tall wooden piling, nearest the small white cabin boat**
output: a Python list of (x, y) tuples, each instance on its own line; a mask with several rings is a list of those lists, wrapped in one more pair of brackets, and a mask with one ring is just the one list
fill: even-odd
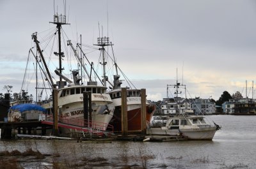
[(146, 135), (146, 89), (141, 89), (141, 134)]

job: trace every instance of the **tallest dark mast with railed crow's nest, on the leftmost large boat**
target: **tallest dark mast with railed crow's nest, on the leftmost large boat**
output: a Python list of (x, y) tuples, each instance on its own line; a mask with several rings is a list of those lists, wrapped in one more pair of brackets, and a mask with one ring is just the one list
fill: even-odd
[[(66, 15), (58, 15), (58, 13), (56, 15), (54, 15), (54, 21), (50, 22), (51, 24), (56, 24), (56, 27), (58, 29), (58, 48), (59, 51), (54, 52), (55, 55), (59, 56), (59, 68), (57, 70), (59, 70), (60, 74), (62, 74), (62, 70), (64, 70), (64, 68), (61, 67), (61, 59), (62, 57), (64, 57), (64, 53), (61, 52), (61, 25), (66, 25)], [(62, 78), (60, 77), (60, 82), (58, 83), (58, 87), (59, 89), (64, 87), (64, 84), (61, 82)]]

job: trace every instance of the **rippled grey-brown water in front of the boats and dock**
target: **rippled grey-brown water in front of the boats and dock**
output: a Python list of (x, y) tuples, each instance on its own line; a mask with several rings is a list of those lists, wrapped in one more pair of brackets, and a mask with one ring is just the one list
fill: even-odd
[(20, 163), (24, 168), (51, 168), (52, 161), (77, 168), (256, 168), (256, 116), (210, 115), (207, 119), (222, 126), (212, 141), (77, 143), (18, 140), (1, 141), (0, 151), (22, 152), (33, 147), (42, 154), (51, 155), (41, 161), (22, 159)]

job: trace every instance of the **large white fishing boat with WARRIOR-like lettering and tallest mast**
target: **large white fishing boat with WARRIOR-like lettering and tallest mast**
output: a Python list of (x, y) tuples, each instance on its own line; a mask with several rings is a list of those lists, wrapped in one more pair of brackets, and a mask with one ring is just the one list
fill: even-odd
[[(45, 48), (44, 50), (41, 49), (42, 47), (44, 47), (44, 45), (42, 45), (38, 41), (38, 37), (37, 37), (38, 33), (32, 34), (32, 39), (35, 42), (35, 47), (31, 48), (29, 52), (33, 54), (33, 56), (36, 59), (36, 70), (40, 68), (39, 70), (41, 71), (41, 75), (42, 77), (44, 77), (43, 80), (41, 80), (41, 82), (44, 81), (44, 85), (40, 87), (38, 85), (38, 81), (40, 80), (38, 80), (38, 75), (36, 73), (36, 97), (38, 96), (38, 93), (42, 94), (42, 91), (45, 91), (47, 89), (49, 89), (50, 91), (57, 89), (58, 121), (60, 122), (71, 122), (72, 120), (76, 122), (79, 121), (79, 125), (81, 126), (88, 126), (90, 128), (97, 128), (105, 131), (109, 126), (109, 121), (113, 117), (113, 112), (115, 110), (115, 106), (113, 106), (112, 104), (113, 101), (109, 93), (106, 92), (107, 87), (104, 85), (98, 85), (97, 82), (94, 82), (92, 80), (91, 75), (86, 70), (85, 64), (83, 62), (83, 57), (86, 57), (86, 56), (81, 54), (81, 57), (79, 57), (79, 55), (77, 54), (77, 50), (74, 49), (70, 40), (68, 41), (68, 45), (70, 46), (71, 51), (74, 52), (74, 54), (72, 55), (73, 59), (67, 58), (67, 59), (70, 59), (67, 62), (69, 63), (73, 60), (76, 61), (75, 65), (76, 66), (78, 65), (81, 70), (81, 73), (83, 70), (83, 72), (85, 72), (84, 75), (87, 75), (87, 77), (85, 76), (82, 77), (81, 75), (79, 75), (80, 70), (77, 68), (76, 69), (73, 68), (72, 70), (70, 70), (72, 66), (68, 66), (68, 69), (72, 72), (72, 80), (70, 80), (70, 78), (66, 76), (66, 75), (70, 75), (70, 73), (69, 72), (64, 73), (63, 71), (64, 68), (63, 68), (62, 62), (63, 62), (63, 59), (65, 59), (66, 54), (64, 55), (64, 52), (62, 52), (61, 50), (61, 33), (63, 33), (63, 29), (61, 26), (67, 24), (66, 15), (58, 15), (58, 13), (55, 14), (54, 22), (51, 22), (51, 23), (56, 24), (55, 30), (52, 31), (52, 34), (50, 36), (47, 36), (44, 40), (40, 40), (40, 41), (43, 41), (45, 44), (46, 40), (52, 40), (55, 38), (55, 36), (57, 36), (58, 43), (56, 44), (56, 46), (58, 48), (58, 52), (52, 52), (52, 48), (53, 48), (53, 45), (52, 45), (49, 52), (50, 56), (48, 56), (50, 57), (49, 61), (45, 61), (44, 54), (47, 54), (47, 52), (45, 52)], [(46, 44), (48, 45), (49, 42), (47, 41)], [(34, 52), (32, 49), (34, 49)], [(65, 47), (65, 49), (67, 50), (67, 47)], [(53, 66), (49, 66), (49, 62), (51, 62), (52, 54), (58, 56), (59, 58), (58, 59), (59, 68), (56, 68), (54, 70), (51, 70)], [(53, 78), (55, 74), (60, 78), (60, 80), (57, 81), (55, 80), (55, 78)], [(82, 78), (87, 78), (88, 82), (86, 85), (84, 85), (84, 83), (81, 82)], [(49, 87), (48, 88), (45, 87), (46, 86), (45, 84), (49, 85)], [(41, 89), (41, 92), (38, 92), (37, 91), (38, 89)], [(84, 92), (88, 92), (88, 94), (90, 95), (89, 98), (92, 100), (92, 104), (91, 104), (92, 109), (88, 110), (88, 112), (84, 112), (84, 98), (83, 98)], [(52, 94), (52, 96), (54, 96), (54, 94)], [(39, 99), (38, 101), (36, 98), (36, 101), (38, 102), (38, 104), (42, 105), (42, 107), (48, 110), (47, 120), (49, 121), (52, 121), (53, 119), (52, 96), (44, 100)], [(39, 98), (42, 98), (42, 96), (40, 96)], [(65, 133), (65, 132), (66, 133), (70, 132), (70, 129), (63, 129), (63, 131), (61, 131), (61, 133)]]

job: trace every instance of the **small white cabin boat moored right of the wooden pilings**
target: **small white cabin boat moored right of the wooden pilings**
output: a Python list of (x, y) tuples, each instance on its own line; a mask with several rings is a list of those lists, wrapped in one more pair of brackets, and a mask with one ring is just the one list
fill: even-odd
[[(180, 83), (173, 85), (175, 88), (176, 97), (181, 92)], [(183, 85), (186, 89), (186, 85)], [(177, 104), (180, 102), (176, 102)], [(186, 105), (185, 105), (186, 107)], [(168, 115), (166, 122), (163, 126), (152, 125), (147, 129), (148, 135), (182, 135), (190, 140), (212, 140), (217, 130), (221, 129), (218, 124), (211, 124), (204, 115), (195, 115), (190, 107), (181, 108), (179, 105), (175, 107), (175, 115)], [(193, 115), (194, 114), (194, 115)]]

